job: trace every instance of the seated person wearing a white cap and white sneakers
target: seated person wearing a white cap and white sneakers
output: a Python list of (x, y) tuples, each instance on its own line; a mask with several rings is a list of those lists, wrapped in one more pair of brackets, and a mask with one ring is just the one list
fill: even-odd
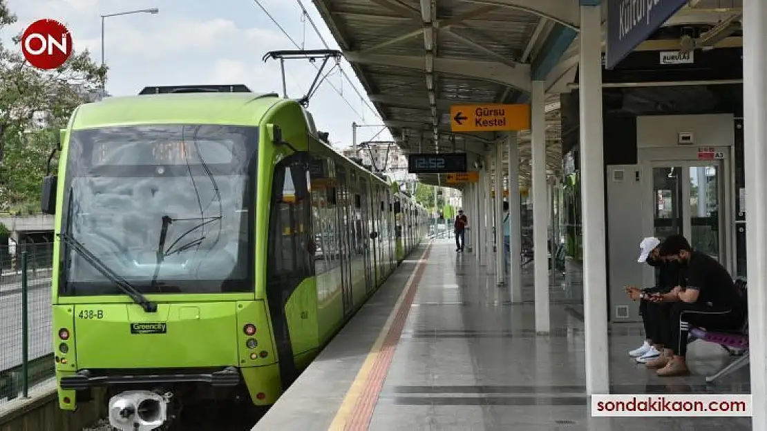
[(650, 294), (667, 293), (676, 286), (680, 285), (680, 265), (678, 262), (669, 262), (660, 257), (660, 240), (656, 237), (647, 237), (639, 244), (640, 255), (639, 263), (647, 263), (656, 268), (655, 286), (647, 289), (639, 289), (634, 286), (627, 286), (626, 293), (633, 301), (639, 300), (639, 315), (642, 316), (644, 324), (644, 344), (629, 352), (629, 356), (636, 358), (640, 364), (658, 358), (663, 351), (664, 336), (660, 332), (659, 313), (668, 314), (670, 304), (660, 304), (650, 302)]

